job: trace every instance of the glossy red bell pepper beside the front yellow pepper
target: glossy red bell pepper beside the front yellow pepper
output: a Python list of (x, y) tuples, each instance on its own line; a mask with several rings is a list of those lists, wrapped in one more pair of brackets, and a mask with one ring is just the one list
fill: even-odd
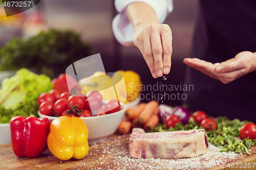
[(47, 149), (48, 118), (14, 116), (10, 128), (12, 150), (17, 157), (34, 158)]

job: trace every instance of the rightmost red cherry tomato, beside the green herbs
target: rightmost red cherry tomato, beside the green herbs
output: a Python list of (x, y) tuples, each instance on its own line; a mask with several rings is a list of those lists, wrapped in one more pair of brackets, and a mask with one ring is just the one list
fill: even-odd
[(240, 130), (240, 136), (243, 139), (247, 137), (249, 137), (249, 139), (256, 139), (256, 125), (253, 123), (243, 125)]

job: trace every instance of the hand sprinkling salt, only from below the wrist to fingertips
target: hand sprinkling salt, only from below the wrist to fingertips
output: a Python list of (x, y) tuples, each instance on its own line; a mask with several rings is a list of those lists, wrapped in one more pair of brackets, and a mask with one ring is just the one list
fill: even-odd
[(135, 29), (135, 46), (142, 53), (154, 78), (170, 71), (173, 48), (172, 31), (165, 24), (150, 23)]

